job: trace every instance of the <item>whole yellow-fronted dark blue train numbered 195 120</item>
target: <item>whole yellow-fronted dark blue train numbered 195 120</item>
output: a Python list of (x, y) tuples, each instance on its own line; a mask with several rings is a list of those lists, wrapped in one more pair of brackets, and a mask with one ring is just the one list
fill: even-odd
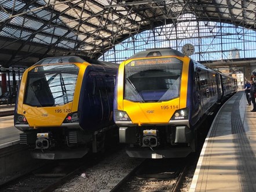
[[(118, 65), (80, 57), (45, 58), (21, 79), (14, 125), (32, 157), (79, 158), (103, 147), (114, 126), (112, 104)], [(100, 146), (102, 145), (102, 146)]]

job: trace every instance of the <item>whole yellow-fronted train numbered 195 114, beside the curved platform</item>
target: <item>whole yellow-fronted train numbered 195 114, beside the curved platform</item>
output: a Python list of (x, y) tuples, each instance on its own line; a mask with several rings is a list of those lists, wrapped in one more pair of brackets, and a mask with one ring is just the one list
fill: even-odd
[[(173, 49), (141, 51), (122, 62), (114, 119), (127, 154), (173, 158), (195, 152), (197, 125), (221, 102), (221, 82), (220, 73)], [(230, 87), (226, 91), (233, 93)]]

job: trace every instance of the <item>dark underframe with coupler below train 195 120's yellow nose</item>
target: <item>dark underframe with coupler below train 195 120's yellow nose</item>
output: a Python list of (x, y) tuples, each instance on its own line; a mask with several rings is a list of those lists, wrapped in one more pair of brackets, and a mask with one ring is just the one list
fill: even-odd
[(81, 128), (42, 128), (20, 134), (20, 144), (31, 149), (31, 156), (39, 159), (82, 158), (89, 151), (104, 150), (105, 135), (112, 126), (100, 131), (86, 132)]

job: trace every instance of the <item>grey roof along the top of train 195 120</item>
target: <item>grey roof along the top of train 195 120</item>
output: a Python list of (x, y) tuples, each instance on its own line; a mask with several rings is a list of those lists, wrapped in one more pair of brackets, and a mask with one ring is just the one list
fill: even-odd
[(47, 64), (61, 64), (61, 63), (74, 63), (74, 62), (89, 62), (95, 67), (108, 67), (108, 68), (118, 68), (119, 64), (115, 64), (107, 61), (92, 60), (89, 58), (81, 58), (78, 56), (58, 56), (58, 57), (47, 57), (36, 62), (34, 65), (47, 65)]

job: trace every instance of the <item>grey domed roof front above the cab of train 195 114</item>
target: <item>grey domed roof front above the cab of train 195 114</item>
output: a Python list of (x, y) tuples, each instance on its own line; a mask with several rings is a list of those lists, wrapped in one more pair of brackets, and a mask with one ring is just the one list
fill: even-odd
[(179, 56), (184, 57), (185, 55), (180, 53), (177, 50), (171, 49), (171, 48), (156, 48), (156, 49), (147, 49), (145, 51), (140, 51), (131, 58), (142, 58), (142, 57), (159, 57), (159, 56)]

